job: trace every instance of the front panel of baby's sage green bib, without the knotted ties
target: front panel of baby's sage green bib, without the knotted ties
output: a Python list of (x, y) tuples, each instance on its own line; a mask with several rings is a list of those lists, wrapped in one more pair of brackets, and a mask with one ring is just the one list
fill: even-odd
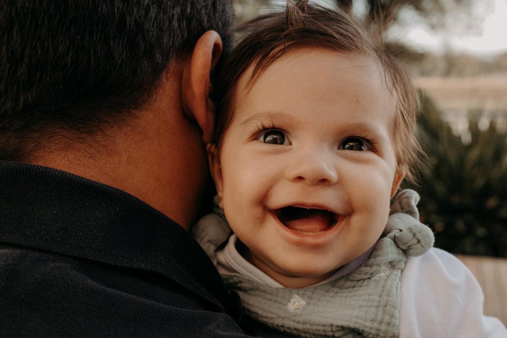
[(405, 260), (403, 251), (383, 238), (356, 270), (326, 284), (273, 288), (239, 274), (223, 278), (249, 316), (290, 335), (395, 337)]

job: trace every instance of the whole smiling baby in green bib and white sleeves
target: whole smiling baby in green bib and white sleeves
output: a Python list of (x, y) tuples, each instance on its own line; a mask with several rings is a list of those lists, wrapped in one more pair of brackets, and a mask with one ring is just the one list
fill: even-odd
[(247, 30), (217, 88), (215, 213), (193, 229), (239, 293), (246, 330), (504, 334), (468, 270), (430, 249), (417, 193), (391, 206), (422, 154), (402, 67), (347, 14), (306, 1)]

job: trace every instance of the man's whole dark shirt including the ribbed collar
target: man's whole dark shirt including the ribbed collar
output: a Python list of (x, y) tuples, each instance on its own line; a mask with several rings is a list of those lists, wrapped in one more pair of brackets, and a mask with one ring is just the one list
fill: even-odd
[(123, 191), (0, 161), (0, 336), (243, 336), (178, 224)]

